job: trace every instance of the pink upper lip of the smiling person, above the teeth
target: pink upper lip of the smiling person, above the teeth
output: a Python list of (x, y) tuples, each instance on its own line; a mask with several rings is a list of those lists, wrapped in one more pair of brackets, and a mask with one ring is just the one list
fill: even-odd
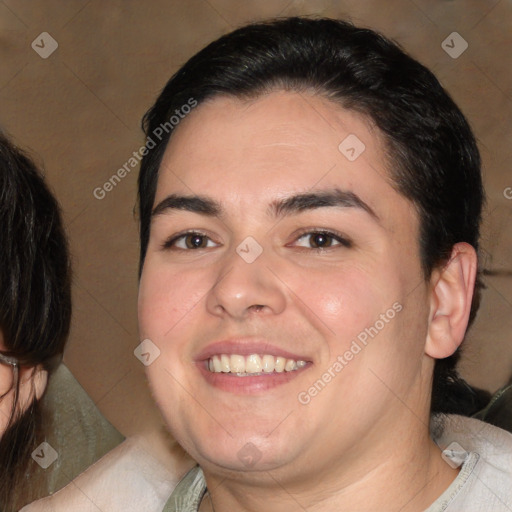
[(268, 354), (274, 357), (286, 357), (295, 361), (311, 361), (311, 358), (302, 354), (299, 355), (288, 350), (284, 350), (261, 338), (230, 338), (220, 341), (214, 341), (207, 345), (197, 355), (198, 361), (204, 361), (219, 354), (238, 354), (249, 356), (251, 354)]

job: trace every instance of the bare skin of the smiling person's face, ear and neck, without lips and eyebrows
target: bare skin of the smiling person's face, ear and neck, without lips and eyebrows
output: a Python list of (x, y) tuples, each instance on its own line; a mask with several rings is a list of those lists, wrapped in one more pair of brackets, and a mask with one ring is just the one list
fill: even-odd
[[(338, 150), (348, 134), (366, 146), (352, 162)], [(357, 194), (378, 220), (356, 207), (267, 215), (275, 199), (334, 187)], [(171, 433), (205, 473), (211, 496), (201, 510), (212, 502), (217, 512), (427, 508), (458, 473), (429, 437), (430, 388), (435, 358), (463, 339), (476, 254), (457, 244), (424, 279), (418, 216), (390, 184), (378, 130), (309, 94), (216, 97), (171, 138), (154, 205), (171, 193), (208, 195), (226, 211), (154, 216), (139, 289), (141, 339), (160, 350), (149, 382)], [(320, 228), (350, 247), (331, 239), (318, 250), (299, 232)], [(207, 236), (205, 248), (181, 239), (162, 249), (189, 229)], [(263, 249), (250, 264), (236, 252), (248, 236)], [(395, 302), (395, 318), (301, 404), (298, 394)], [(263, 337), (311, 364), (259, 393), (220, 390), (195, 359), (234, 336)], [(259, 457), (251, 467), (239, 456), (247, 443)]]

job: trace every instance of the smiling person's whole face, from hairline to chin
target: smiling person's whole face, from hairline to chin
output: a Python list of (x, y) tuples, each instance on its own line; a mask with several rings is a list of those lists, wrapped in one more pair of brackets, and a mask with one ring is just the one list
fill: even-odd
[(411, 415), (397, 396), (428, 409), (418, 218), (366, 119), (291, 92), (202, 103), (166, 149), (154, 208), (147, 373), (203, 468), (332, 470)]

